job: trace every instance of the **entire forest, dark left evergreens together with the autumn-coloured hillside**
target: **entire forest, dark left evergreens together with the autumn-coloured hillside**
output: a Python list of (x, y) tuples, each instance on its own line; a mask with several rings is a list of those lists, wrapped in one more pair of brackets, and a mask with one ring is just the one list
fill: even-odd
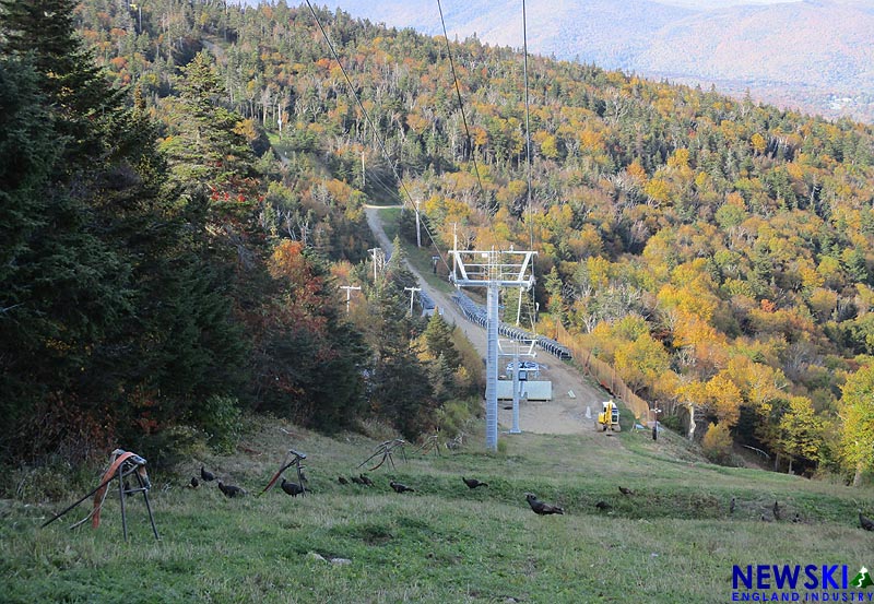
[[(402, 200), (444, 250), (453, 230), (470, 248), (533, 246), (539, 330), (591, 348), (665, 415), (697, 407), (712, 441), (731, 429), (782, 469), (861, 481), (874, 464), (871, 128), (531, 58), (529, 202), (508, 49), (317, 12), (365, 115), (306, 7), (90, 0), (84, 45), (126, 96), (81, 51), (28, 43), (57, 15), (10, 19), (24, 5), (4, 2), (3, 29), (25, 33), (5, 46), (37, 55), (4, 59), (20, 128), (2, 144), (26, 132), (36, 152), (7, 220), (23, 235), (3, 237), (17, 242), (3, 244), (0, 358), (20, 393), (3, 411), (31, 434), (47, 406), (85, 426), (131, 413), (157, 434), (237, 401), (323, 428), (366, 410), (405, 434), (433, 426), (470, 377), (446, 337), (411, 347), (402, 265), (373, 283), (364, 263), (362, 204)], [(58, 85), (61, 56), (115, 105)], [(90, 109), (61, 110), (63, 95)], [(49, 144), (72, 127), (98, 145)], [(366, 287), (363, 320), (344, 320), (331, 275)]]

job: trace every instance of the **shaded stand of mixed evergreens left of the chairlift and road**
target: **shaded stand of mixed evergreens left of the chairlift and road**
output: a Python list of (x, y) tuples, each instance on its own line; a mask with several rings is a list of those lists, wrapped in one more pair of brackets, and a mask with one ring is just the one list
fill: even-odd
[[(150, 58), (138, 85), (113, 87), (87, 40), (135, 37), (140, 14), (118, 7), (0, 9), (2, 461), (125, 442), (161, 465), (233, 445), (245, 410), (328, 431), (371, 417), (410, 438), (457, 430), (476, 375), (439, 317), (410, 317), (401, 253), (362, 276), (364, 194), (316, 153), (274, 159), (213, 58), (178, 54), (185, 21), (164, 57), (160, 15), (142, 15), (145, 55), (98, 55)], [(365, 296), (346, 315), (349, 281)]]

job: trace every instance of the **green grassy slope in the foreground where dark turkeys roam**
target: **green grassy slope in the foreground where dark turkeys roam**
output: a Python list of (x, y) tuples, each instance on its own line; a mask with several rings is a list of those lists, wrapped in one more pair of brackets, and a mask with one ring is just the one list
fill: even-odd
[[(858, 507), (874, 510), (871, 490), (711, 465), (670, 434), (658, 442), (628, 431), (501, 439), (503, 454), (483, 452), (479, 438), (454, 454), (410, 448), (405, 462), (395, 455), (395, 470), (369, 472), (377, 486), (365, 488), (336, 477), (357, 473), (377, 441), (263, 423), (237, 454), (203, 460), (248, 497), (185, 488), (200, 460), (176, 478), (155, 478), (161, 542), (139, 498), (129, 500), (128, 543), (117, 498), (107, 499), (96, 531), (67, 529), (85, 505), (40, 529), (68, 501), (5, 501), (0, 600), (728, 602), (734, 564), (874, 562), (874, 534), (855, 519)], [(288, 448), (308, 453), (312, 494), (255, 497)], [(469, 490), (461, 475), (489, 487)], [(416, 493), (394, 494), (391, 478)], [(533, 514), (525, 492), (566, 514)], [(729, 514), (732, 496), (737, 509)], [(775, 499), (804, 523), (761, 522)], [(610, 513), (598, 512), (599, 500)]]

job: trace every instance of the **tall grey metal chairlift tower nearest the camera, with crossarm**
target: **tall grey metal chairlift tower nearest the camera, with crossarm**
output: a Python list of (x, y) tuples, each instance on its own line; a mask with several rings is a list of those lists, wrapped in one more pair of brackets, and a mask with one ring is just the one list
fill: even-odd
[[(456, 246), (457, 247), (457, 246)], [(485, 446), (498, 448), (498, 293), (500, 287), (534, 285), (534, 251), (452, 249), (452, 282), (457, 287), (486, 288)]]

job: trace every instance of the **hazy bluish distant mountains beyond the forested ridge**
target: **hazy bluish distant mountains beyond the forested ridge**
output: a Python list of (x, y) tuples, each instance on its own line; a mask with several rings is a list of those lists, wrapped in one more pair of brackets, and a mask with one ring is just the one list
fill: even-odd
[[(328, 0), (442, 35), (434, 0)], [(522, 3), (442, 0), (450, 38), (521, 48)], [(556, 0), (525, 7), (531, 52), (874, 122), (874, 0)]]

